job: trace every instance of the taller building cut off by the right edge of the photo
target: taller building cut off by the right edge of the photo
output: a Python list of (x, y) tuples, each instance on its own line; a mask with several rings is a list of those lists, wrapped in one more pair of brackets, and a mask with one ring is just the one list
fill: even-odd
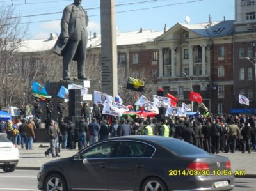
[[(256, 113), (256, 0), (235, 1), (234, 22), (234, 104), (232, 112)], [(239, 104), (239, 94), (250, 105)]]

